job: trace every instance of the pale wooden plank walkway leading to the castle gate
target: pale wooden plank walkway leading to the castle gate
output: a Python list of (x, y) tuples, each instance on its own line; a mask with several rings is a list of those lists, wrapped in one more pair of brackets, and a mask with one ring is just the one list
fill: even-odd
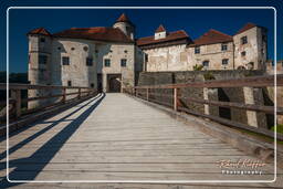
[[(0, 143), (0, 177), (4, 178), (4, 140)], [(9, 150), (10, 180), (273, 179), (273, 165), (259, 168), (263, 175), (222, 174), (219, 160), (256, 158), (201, 133), (190, 126), (190, 123), (178, 122), (125, 94), (95, 97), (49, 119), (38, 122), (12, 135)], [(17, 185), (22, 188), (28, 183)], [(45, 187), (63, 187), (49, 185)], [(245, 185), (261, 188), (281, 186), (283, 182), (280, 176), (276, 183)], [(230, 186), (239, 187), (239, 183)], [(65, 187), (73, 186), (65, 183)]]

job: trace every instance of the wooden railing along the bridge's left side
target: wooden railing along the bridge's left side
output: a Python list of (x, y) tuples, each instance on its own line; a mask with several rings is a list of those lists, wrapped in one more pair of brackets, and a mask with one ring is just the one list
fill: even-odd
[[(0, 91), (7, 91), (6, 83), (0, 83)], [(28, 97), (23, 98), (22, 93), (25, 92), (27, 94), (27, 92), (29, 93), (31, 91), (33, 91), (33, 95), (28, 95)], [(91, 87), (12, 83), (9, 84), (9, 106), (7, 106), (7, 101), (0, 101), (0, 119), (6, 119), (7, 108), (9, 109), (10, 118), (18, 119), (27, 114), (51, 108), (61, 104), (67, 104), (74, 99), (83, 99), (96, 94), (97, 92)], [(41, 103), (43, 101), (45, 101), (45, 103)], [(30, 102), (38, 102), (38, 105), (29, 107), (28, 103)], [(23, 108), (23, 104), (28, 105), (28, 107)]]

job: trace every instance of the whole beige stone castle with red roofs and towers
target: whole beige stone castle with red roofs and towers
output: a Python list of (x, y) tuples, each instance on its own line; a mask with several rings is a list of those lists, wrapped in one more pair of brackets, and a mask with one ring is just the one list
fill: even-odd
[(136, 84), (139, 72), (192, 71), (196, 65), (262, 70), (266, 32), (248, 23), (233, 36), (211, 29), (192, 40), (184, 30), (168, 32), (159, 25), (154, 35), (135, 39), (135, 24), (124, 13), (109, 28), (71, 28), (53, 34), (39, 28), (28, 33), (29, 81), (120, 92)]

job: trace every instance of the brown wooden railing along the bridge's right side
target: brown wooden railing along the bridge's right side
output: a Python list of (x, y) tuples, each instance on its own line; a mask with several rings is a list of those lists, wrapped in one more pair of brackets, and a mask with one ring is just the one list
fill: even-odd
[[(283, 86), (283, 74), (276, 76), (276, 86)], [(182, 88), (231, 88), (231, 87), (248, 87), (248, 88), (263, 88), (274, 87), (274, 76), (250, 76), (244, 78), (233, 80), (210, 80), (205, 82), (190, 82), (182, 84), (165, 84), (165, 85), (146, 85), (124, 88), (124, 93), (134, 95), (145, 101), (161, 104), (174, 108), (175, 111), (185, 112), (196, 116), (209, 118), (223, 125), (237, 127), (240, 129), (258, 133), (264, 136), (274, 137), (274, 132), (264, 127), (251, 126), (240, 122), (231, 120), (209, 113), (200, 113), (193, 108), (188, 108), (188, 104), (195, 103), (199, 106), (217, 106), (226, 108), (237, 108), (250, 112), (260, 112), (264, 114), (274, 114), (274, 106), (265, 106), (248, 103), (223, 102), (205, 99), (203, 95), (199, 98), (190, 96), (190, 93), (182, 93)], [(196, 96), (196, 95), (195, 95)], [(283, 115), (283, 107), (276, 107), (276, 114)], [(283, 135), (277, 134), (277, 139), (283, 140)]]

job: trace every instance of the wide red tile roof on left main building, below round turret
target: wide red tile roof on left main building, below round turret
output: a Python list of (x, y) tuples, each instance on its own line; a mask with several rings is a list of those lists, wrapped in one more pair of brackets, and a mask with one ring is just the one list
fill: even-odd
[(86, 39), (108, 42), (134, 43), (134, 41), (117, 28), (72, 28), (62, 32), (54, 33), (55, 38)]

